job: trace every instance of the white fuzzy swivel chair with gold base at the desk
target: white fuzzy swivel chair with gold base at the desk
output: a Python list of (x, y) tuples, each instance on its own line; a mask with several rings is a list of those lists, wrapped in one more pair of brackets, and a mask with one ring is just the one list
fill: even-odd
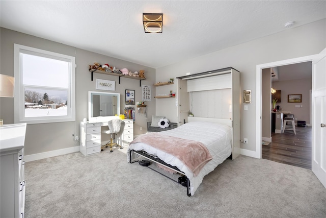
[(112, 147), (114, 146), (119, 146), (120, 149), (123, 149), (123, 146), (113, 142), (113, 136), (117, 135), (120, 137), (123, 133), (124, 125), (125, 123), (121, 119), (112, 119), (107, 122), (108, 130), (104, 130), (102, 133), (111, 134), (111, 139), (105, 144), (105, 146), (101, 146), (101, 151), (104, 150), (104, 147), (107, 148), (108, 146), (110, 146), (110, 152), (113, 152)]

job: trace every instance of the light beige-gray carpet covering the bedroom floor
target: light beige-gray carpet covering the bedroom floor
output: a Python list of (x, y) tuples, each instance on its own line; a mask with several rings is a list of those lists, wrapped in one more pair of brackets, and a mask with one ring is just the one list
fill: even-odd
[(311, 170), (265, 159), (227, 159), (195, 195), (123, 150), (79, 152), (25, 164), (25, 218), (325, 217), (326, 189)]

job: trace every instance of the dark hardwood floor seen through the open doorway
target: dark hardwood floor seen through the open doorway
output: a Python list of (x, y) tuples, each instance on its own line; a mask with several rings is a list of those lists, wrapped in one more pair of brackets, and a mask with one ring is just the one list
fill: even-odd
[(295, 127), (283, 134), (272, 133), (272, 142), (262, 145), (262, 158), (311, 169), (311, 127)]

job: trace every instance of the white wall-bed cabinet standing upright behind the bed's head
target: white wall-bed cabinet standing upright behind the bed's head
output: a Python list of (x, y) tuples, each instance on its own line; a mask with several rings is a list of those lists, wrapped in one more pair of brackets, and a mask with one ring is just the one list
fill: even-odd
[[(231, 119), (232, 160), (239, 156), (240, 72), (227, 67), (177, 79), (178, 126), (187, 122), (186, 115), (190, 110), (198, 117)], [(214, 98), (212, 93), (216, 93), (213, 95)]]

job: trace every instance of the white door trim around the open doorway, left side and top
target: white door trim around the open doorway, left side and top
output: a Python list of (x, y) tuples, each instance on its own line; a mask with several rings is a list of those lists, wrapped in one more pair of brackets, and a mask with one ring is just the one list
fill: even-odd
[(262, 74), (262, 69), (270, 68), (270, 67), (277, 67), (277, 66), (282, 66), (282, 65), (288, 65), (288, 64), (308, 62), (308, 61), (312, 61), (316, 56), (317, 56), (317, 54), (256, 65), (256, 152), (254, 152), (253, 157), (261, 159), (261, 98), (262, 98), (262, 96), (261, 96), (261, 74)]

